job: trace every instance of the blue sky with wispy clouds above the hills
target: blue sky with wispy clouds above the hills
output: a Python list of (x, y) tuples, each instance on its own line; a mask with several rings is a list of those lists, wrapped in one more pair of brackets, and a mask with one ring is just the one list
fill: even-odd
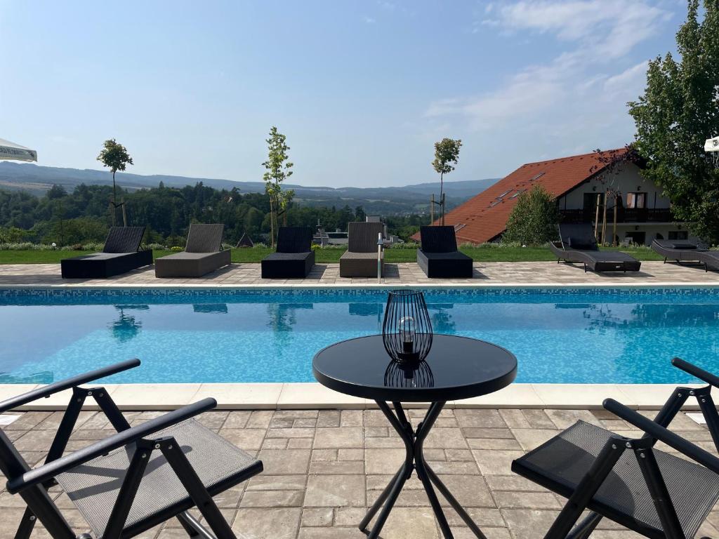
[(630, 142), (626, 101), (674, 51), (678, 0), (0, 0), (0, 138), (40, 165), (261, 180), (288, 137), (293, 183), (449, 180)]

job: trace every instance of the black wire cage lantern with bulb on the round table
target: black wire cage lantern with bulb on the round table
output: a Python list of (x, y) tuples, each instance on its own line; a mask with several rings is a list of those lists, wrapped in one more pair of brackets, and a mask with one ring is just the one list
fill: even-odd
[(390, 357), (400, 363), (418, 363), (432, 346), (432, 323), (419, 290), (392, 290), (387, 298), (382, 338)]

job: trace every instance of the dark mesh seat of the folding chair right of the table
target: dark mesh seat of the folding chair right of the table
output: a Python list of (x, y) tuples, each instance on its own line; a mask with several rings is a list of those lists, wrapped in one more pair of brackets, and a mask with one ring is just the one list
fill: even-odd
[[(578, 421), (514, 461), (512, 469), (569, 497), (613, 436), (616, 435), (609, 430)], [(684, 536), (692, 538), (719, 499), (719, 476), (693, 461), (656, 449), (654, 456)], [(664, 537), (659, 515), (631, 449), (622, 453), (588, 507), (649, 537)]]

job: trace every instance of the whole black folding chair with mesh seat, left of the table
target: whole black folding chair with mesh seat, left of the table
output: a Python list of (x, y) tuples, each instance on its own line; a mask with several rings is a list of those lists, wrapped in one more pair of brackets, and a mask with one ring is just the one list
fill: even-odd
[[(138, 365), (137, 359), (124, 361), (0, 402), (3, 413), (72, 390), (42, 466), (30, 469), (0, 430), (0, 471), (8, 479), (6, 488), (27, 504), (15, 539), (28, 539), (37, 520), (54, 539), (77, 537), (47, 493), (55, 483), (63, 487), (97, 538), (134, 537), (173, 517), (190, 537), (213, 538), (187, 512), (193, 506), (217, 539), (235, 538), (212, 496), (259, 474), (262, 462), (192, 419), (214, 408), (214, 399), (130, 427), (104, 387), (79, 387)], [(117, 433), (63, 456), (87, 397), (93, 397)]]

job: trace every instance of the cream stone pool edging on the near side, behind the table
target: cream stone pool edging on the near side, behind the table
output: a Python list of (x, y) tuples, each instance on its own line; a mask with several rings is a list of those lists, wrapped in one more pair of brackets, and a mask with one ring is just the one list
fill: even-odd
[[(661, 408), (675, 387), (697, 388), (701, 384), (511, 384), (503, 390), (471, 399), (447, 402), (449, 408), (535, 408), (587, 410), (602, 407), (613, 398), (635, 410)], [(0, 401), (42, 387), (41, 384), (0, 384)], [(99, 384), (98, 386), (99, 387)], [(214, 397), (219, 410), (367, 410), (372, 400), (349, 397), (317, 382), (244, 384), (103, 384), (121, 410), (174, 410), (205, 397)], [(66, 390), (32, 402), (19, 410), (64, 410), (71, 392)], [(426, 402), (407, 407), (426, 407)], [(98, 410), (88, 399), (86, 410)], [(698, 410), (687, 401), (686, 410)]]

